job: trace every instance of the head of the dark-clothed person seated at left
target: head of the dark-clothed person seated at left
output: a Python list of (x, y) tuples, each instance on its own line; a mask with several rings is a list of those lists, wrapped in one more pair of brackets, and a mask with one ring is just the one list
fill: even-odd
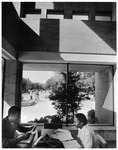
[(8, 118), (9, 118), (10, 122), (18, 123), (19, 119), (20, 119), (20, 112), (21, 112), (21, 109), (19, 107), (12, 106), (8, 110)]

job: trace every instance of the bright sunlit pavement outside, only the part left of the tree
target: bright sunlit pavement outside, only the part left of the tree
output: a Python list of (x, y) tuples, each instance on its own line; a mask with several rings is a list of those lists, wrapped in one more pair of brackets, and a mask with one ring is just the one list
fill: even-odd
[[(25, 123), (28, 121), (33, 121), (35, 118), (40, 119), (41, 117), (47, 116), (47, 115), (55, 115), (56, 110), (53, 108), (54, 106), (51, 104), (52, 101), (50, 101), (48, 98), (49, 93), (40, 93), (39, 95), (39, 101), (28, 107), (22, 107), (21, 109), (21, 122)], [(25, 95), (23, 95), (25, 96)], [(28, 95), (26, 95), (28, 97)]]

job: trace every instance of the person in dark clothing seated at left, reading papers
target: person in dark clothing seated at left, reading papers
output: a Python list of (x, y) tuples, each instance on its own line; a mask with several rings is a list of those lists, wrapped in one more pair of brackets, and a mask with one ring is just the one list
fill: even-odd
[[(20, 108), (17, 106), (12, 106), (8, 110), (8, 116), (2, 120), (2, 147), (11, 148), (15, 147), (20, 141), (27, 139), (30, 133), (27, 132), (28, 128), (22, 127), (19, 124), (20, 120)], [(17, 130), (20, 129), (22, 133)]]

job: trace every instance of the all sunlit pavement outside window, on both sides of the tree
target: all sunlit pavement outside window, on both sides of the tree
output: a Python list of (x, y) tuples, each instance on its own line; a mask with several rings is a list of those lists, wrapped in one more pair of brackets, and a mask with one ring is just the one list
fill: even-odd
[[(48, 98), (48, 92), (40, 92), (39, 94), (39, 101), (28, 107), (22, 107), (21, 109), (21, 122), (26, 123), (28, 121), (33, 121), (35, 118), (40, 119), (41, 117), (47, 115), (55, 115), (56, 110), (54, 106), (51, 104), (52, 101)], [(30, 98), (29, 94), (23, 94), (25, 100)], [(33, 96), (33, 98), (35, 98)], [(95, 101), (85, 100), (81, 102), (82, 109), (80, 109), (79, 113), (87, 114), (90, 109), (95, 109)]]

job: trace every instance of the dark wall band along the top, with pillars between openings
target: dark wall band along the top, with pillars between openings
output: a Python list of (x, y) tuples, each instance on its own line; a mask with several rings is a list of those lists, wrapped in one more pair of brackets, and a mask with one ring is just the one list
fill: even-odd
[[(72, 19), (74, 14), (87, 13), (90, 20), (95, 20), (95, 14), (98, 12), (111, 13), (112, 3), (100, 2), (22, 2), (21, 17), (25, 17), (27, 13), (36, 14), (36, 10), (41, 13), (43, 18), (49, 14), (62, 14), (64, 19)], [(43, 15), (42, 15), (43, 14)]]

